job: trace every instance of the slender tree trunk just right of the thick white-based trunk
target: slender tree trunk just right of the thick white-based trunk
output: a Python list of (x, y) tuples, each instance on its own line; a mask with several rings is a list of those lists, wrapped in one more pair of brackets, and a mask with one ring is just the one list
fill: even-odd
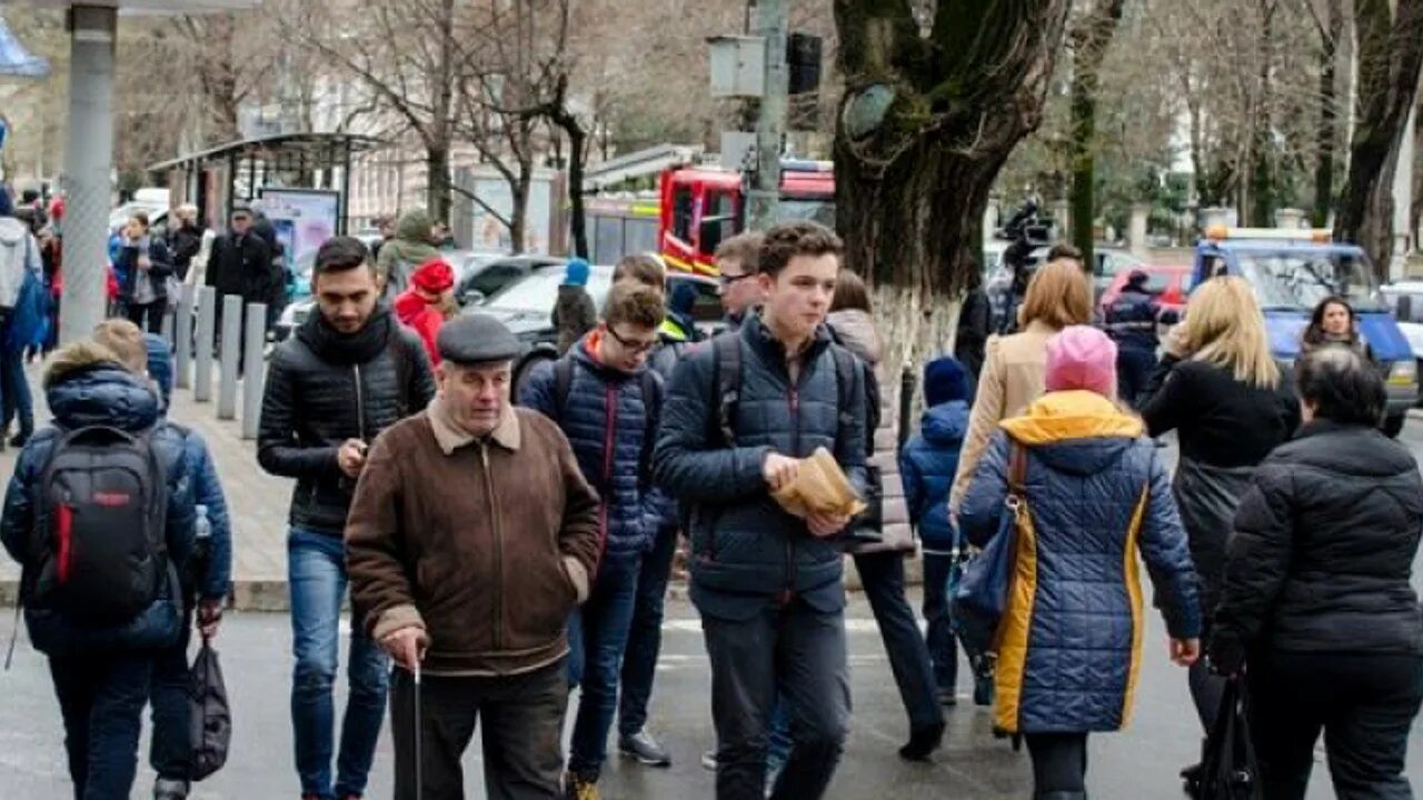
[(1097, 87), (1101, 61), (1121, 21), (1126, 0), (1099, 0), (1072, 31), (1072, 239), (1083, 263), (1096, 263)]

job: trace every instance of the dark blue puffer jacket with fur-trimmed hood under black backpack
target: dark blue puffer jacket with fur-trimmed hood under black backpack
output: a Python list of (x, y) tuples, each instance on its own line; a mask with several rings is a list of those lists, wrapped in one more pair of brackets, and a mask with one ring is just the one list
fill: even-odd
[(37, 567), (40, 558), (33, 541), (37, 511), (34, 495), (50, 450), (61, 434), (60, 428), (112, 426), (131, 433), (154, 428), (154, 450), (164, 464), (168, 480), (171, 579), (165, 595), (148, 611), (132, 622), (112, 628), (80, 626), (57, 611), (27, 606), (24, 618), (30, 628), (30, 639), (36, 649), (48, 655), (162, 649), (178, 639), (182, 625), (176, 567), (186, 562), (194, 541), (192, 480), (184, 437), (172, 426), (164, 424), (154, 390), (124, 367), (105, 360), (107, 357), (108, 352), (97, 346), (80, 346), (65, 350), (51, 364), (46, 374), (46, 394), (58, 427), (48, 426), (34, 434), (20, 453), (6, 491), (0, 540), (24, 568), (21, 584), (27, 586), (31, 579), (30, 568)]

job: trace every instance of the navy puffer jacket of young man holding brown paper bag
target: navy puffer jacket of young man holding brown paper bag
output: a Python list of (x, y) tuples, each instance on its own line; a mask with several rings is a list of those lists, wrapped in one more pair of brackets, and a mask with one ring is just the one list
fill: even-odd
[(692, 599), (699, 611), (747, 619), (767, 599), (801, 595), (822, 612), (844, 608), (841, 544), (810, 535), (781, 510), (761, 474), (770, 453), (807, 457), (830, 450), (855, 491), (865, 487), (865, 394), (854, 393), (851, 424), (840, 438), (840, 390), (828, 329), (803, 356), (793, 387), (785, 350), (756, 317), (739, 333), (741, 386), (731, 424), (736, 446), (717, 430), (716, 349), (682, 359), (667, 390), (657, 436), (657, 485), (692, 505)]

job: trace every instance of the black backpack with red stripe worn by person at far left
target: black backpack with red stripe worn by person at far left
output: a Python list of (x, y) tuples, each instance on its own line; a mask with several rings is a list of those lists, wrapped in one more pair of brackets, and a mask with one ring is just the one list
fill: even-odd
[(40, 473), (41, 558), (27, 605), (121, 625), (166, 591), (168, 493), (152, 430), (65, 431)]

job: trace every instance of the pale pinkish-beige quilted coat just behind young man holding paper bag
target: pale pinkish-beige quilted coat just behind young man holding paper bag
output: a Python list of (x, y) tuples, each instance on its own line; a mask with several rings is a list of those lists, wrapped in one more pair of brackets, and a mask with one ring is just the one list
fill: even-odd
[(882, 495), (881, 540), (875, 544), (859, 544), (852, 552), (912, 551), (914, 528), (909, 525), (909, 510), (905, 505), (904, 481), (899, 478), (899, 460), (895, 450), (899, 443), (899, 404), (892, 389), (896, 381), (888, 380), (884, 364), (884, 340), (875, 329), (875, 320), (857, 309), (840, 310), (825, 320), (835, 332), (840, 343), (875, 370), (879, 383), (879, 427), (871, 431), (875, 450), (868, 463), (879, 468)]

